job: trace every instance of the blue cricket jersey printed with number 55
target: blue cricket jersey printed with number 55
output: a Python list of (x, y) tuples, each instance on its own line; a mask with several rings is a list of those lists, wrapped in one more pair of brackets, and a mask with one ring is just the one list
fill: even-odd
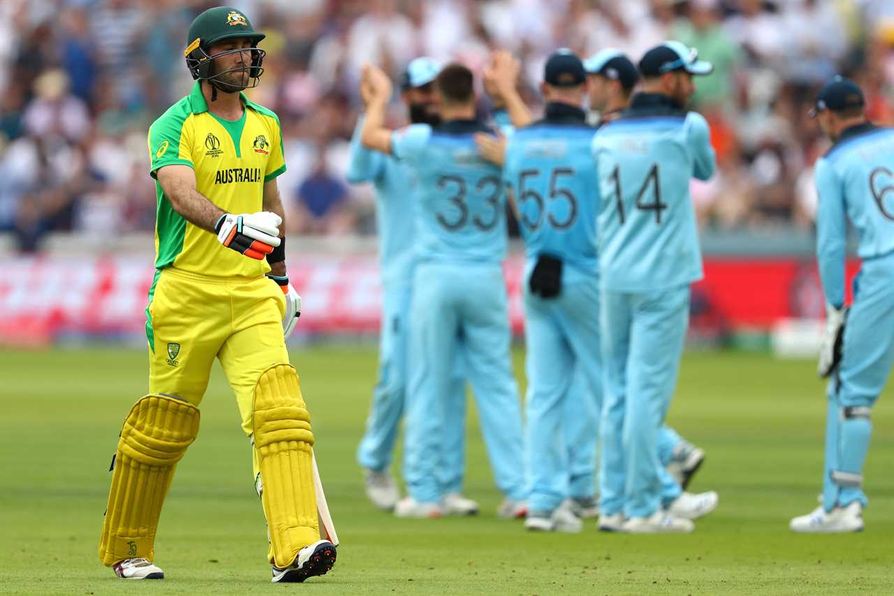
[(543, 120), (510, 137), (503, 182), (514, 197), (528, 261), (549, 254), (597, 274), (595, 132), (583, 110), (552, 103)]

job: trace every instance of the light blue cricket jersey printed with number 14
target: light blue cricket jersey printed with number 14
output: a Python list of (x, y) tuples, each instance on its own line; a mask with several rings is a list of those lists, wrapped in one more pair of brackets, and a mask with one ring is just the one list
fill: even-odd
[(648, 292), (703, 277), (689, 182), (713, 175), (709, 136), (702, 115), (645, 93), (596, 132), (604, 289)]

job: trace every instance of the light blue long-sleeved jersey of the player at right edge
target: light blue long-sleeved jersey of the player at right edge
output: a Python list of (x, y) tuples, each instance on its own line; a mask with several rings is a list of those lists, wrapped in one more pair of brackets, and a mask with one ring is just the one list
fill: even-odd
[(816, 256), (822, 291), (844, 303), (848, 219), (859, 236), (857, 254), (873, 259), (894, 252), (894, 129), (871, 123), (841, 133), (814, 170), (819, 209)]

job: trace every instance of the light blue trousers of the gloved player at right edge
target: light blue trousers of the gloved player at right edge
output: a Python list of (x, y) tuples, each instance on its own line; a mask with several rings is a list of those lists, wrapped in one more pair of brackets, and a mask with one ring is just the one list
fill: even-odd
[(864, 260), (844, 329), (841, 362), (827, 395), (822, 505), (868, 505), (863, 465), (875, 400), (894, 365), (894, 256)]

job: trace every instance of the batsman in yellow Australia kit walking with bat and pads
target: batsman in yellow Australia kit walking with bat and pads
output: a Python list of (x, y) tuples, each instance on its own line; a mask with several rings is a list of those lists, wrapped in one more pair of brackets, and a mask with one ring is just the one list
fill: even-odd
[(156, 179), (156, 275), (146, 335), (149, 393), (124, 420), (99, 558), (125, 579), (162, 579), (155, 538), (164, 497), (198, 434), (217, 357), (252, 446), (274, 582), (303, 582), (335, 562), (320, 540), (310, 414), (285, 336), (300, 297), (285, 268), (285, 171), (279, 118), (249, 101), (264, 39), (245, 14), (218, 6), (190, 25), (184, 55), (196, 83), (149, 128)]

